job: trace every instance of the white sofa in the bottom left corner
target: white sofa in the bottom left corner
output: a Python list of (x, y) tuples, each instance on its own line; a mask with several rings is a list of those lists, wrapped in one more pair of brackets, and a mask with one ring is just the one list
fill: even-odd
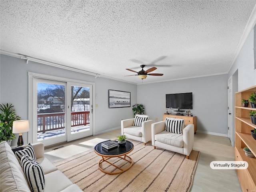
[[(32, 144), (36, 161), (44, 170), (44, 192), (81, 192), (56, 166), (44, 158), (44, 144)], [(26, 146), (22, 146), (26, 148)], [(18, 162), (12, 148), (7, 142), (0, 143), (0, 191), (1, 192), (29, 192), (31, 191), (26, 176)]]

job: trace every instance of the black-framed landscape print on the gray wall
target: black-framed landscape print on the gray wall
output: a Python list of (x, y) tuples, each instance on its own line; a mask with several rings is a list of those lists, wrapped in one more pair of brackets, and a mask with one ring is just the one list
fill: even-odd
[(108, 90), (108, 108), (130, 107), (131, 92)]

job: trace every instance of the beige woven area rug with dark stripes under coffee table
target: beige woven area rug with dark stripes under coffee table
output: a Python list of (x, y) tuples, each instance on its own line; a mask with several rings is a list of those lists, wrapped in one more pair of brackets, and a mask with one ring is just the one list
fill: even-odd
[[(54, 162), (73, 183), (88, 192), (188, 192), (198, 164), (199, 152), (192, 150), (190, 159), (185, 155), (130, 140), (134, 150), (128, 154), (132, 167), (122, 174), (109, 175), (98, 169), (98, 156), (94, 150)], [(120, 158), (111, 158), (116, 165), (129, 166)], [(101, 168), (108, 172), (116, 168), (103, 162)]]

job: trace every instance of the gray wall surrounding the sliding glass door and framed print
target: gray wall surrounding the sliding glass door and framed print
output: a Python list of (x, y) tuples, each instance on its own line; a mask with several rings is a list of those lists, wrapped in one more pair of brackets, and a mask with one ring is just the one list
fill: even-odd
[[(74, 80), (82, 80), (95, 83), (95, 94), (97, 95), (94, 107), (94, 132), (100, 134), (120, 128), (122, 119), (132, 118), (132, 107), (108, 108), (108, 89), (131, 92), (131, 106), (137, 102), (137, 85), (119, 82), (106, 78), (95, 78), (94, 76), (69, 71), (62, 68), (40, 64), (37, 62), (0, 55), (0, 103), (12, 103), (16, 113), (21, 119), (28, 119), (28, 72), (58, 76)], [(30, 101), (31, 102), (31, 101)], [(28, 142), (28, 134), (24, 133), (24, 143)], [(18, 134), (16, 134), (18, 136)], [(16, 143), (15, 139), (12, 143)]]

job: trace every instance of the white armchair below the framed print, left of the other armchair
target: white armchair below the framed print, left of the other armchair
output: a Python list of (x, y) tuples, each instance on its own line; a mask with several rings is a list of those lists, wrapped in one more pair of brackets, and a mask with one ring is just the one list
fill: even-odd
[[(136, 115), (136, 116), (139, 118), (149, 118), (149, 116), (147, 115)], [(146, 145), (146, 142), (149, 142), (151, 140), (151, 124), (154, 123), (155, 121), (146, 120), (146, 121), (140, 122), (141, 126), (134, 126), (135, 118), (121, 121), (121, 133), (122, 135), (125, 135), (126, 138), (144, 142), (144, 145)], [(138, 122), (138, 124), (140, 123)]]

